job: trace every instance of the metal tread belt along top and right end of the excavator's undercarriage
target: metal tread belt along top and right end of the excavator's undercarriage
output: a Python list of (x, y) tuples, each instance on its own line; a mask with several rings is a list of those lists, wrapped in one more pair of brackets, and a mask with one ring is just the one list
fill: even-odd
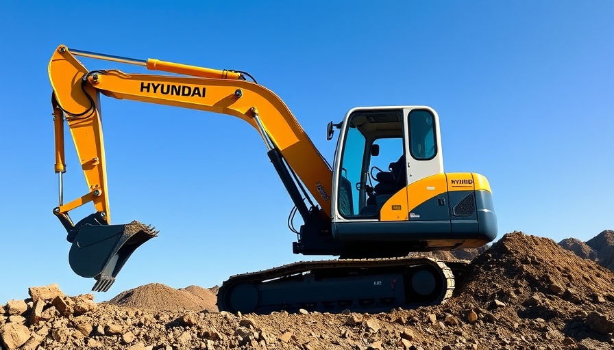
[[(451, 260), (450, 262), (453, 262)], [(456, 262), (456, 260), (454, 260)], [(460, 262), (460, 261), (459, 261)], [(261, 270), (257, 272), (241, 273), (232, 275), (228, 280), (223, 282), (219, 289), (219, 295), (223, 294), (226, 289), (234, 284), (243, 282), (262, 282), (282, 278), (288, 275), (304, 273), (310, 270), (330, 270), (344, 268), (369, 268), (369, 267), (411, 267), (417, 265), (431, 265), (437, 267), (445, 276), (445, 285), (447, 285), (445, 294), (440, 304), (445, 303), (447, 299), (452, 297), (454, 292), (454, 274), (452, 269), (445, 265), (445, 262), (432, 258), (430, 256), (403, 256), (400, 258), (377, 258), (377, 259), (341, 259), (341, 260), (318, 260), (318, 261), (299, 261), (291, 264), (273, 267), (271, 269)]]

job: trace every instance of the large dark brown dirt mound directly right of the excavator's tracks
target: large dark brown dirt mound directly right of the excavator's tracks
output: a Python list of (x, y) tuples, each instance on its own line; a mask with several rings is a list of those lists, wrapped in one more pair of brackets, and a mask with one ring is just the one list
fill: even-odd
[(593, 295), (614, 293), (613, 277), (611, 271), (579, 258), (552, 239), (513, 232), (471, 262), (458, 292), (485, 300), (500, 290), (552, 294), (562, 288), (574, 289), (578, 298), (589, 301)]

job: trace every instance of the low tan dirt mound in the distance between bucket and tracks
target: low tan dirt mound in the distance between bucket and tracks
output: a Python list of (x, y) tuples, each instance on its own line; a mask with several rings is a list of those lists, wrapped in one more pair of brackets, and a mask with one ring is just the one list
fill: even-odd
[(204, 291), (204, 288), (188, 288), (175, 289), (160, 283), (145, 284), (119, 293), (108, 304), (154, 311), (217, 310), (215, 301), (206, 293), (201, 293), (200, 289)]

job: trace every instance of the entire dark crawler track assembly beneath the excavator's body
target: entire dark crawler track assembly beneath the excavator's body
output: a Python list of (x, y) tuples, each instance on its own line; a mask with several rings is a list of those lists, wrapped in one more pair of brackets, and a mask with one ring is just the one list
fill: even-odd
[[(450, 261), (454, 271), (464, 263)], [(381, 312), (441, 304), (452, 291), (452, 269), (426, 256), (321, 260), (234, 275), (219, 289), (217, 304), (219, 310), (260, 314), (299, 308)]]

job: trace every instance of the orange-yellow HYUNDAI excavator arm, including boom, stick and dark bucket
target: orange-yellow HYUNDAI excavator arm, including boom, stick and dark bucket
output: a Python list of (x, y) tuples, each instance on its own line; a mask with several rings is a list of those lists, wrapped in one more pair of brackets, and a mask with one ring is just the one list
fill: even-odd
[[(138, 64), (149, 70), (163, 70), (189, 77), (127, 74), (119, 70), (89, 71), (75, 55)], [(95, 290), (106, 291), (136, 247), (156, 234), (151, 228), (140, 224), (132, 223), (130, 227), (110, 225), (99, 93), (118, 99), (222, 113), (245, 120), (260, 133), (269, 152), (275, 150), (285, 160), (289, 173), (298, 177), (298, 185), (301, 188), (300, 183), (305, 185), (306, 191), (319, 204), (319, 215), (330, 217), (330, 166), (282, 100), (267, 88), (244, 80), (241, 73), (157, 59), (145, 61), (101, 55), (60, 45), (49, 62), (49, 79), (53, 87), (55, 171), (60, 176), (60, 205), (53, 212), (69, 232), (68, 240), (73, 242), (69, 255), (73, 271), (99, 280)], [(87, 193), (66, 204), (62, 198), (62, 174), (66, 171), (64, 119), (88, 186)], [(277, 165), (275, 167), (278, 168)], [(295, 204), (297, 198), (299, 196), (293, 196)], [(88, 202), (93, 202), (95, 213), (73, 224), (69, 211)], [(302, 215), (305, 217), (308, 213)], [(108, 247), (101, 249), (102, 243)], [(85, 246), (89, 249), (84, 249)], [(93, 254), (97, 258), (92, 259)]]

